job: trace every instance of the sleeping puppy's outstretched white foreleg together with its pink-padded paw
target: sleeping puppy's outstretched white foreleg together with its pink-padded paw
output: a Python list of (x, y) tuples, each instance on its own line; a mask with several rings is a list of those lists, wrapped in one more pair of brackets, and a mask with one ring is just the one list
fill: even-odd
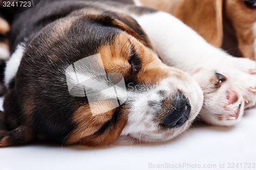
[[(193, 77), (207, 94), (204, 95), (204, 108), (201, 112), (201, 115), (206, 117), (204, 120), (208, 120), (206, 122), (222, 126), (234, 125), (241, 119), (244, 102), (249, 102), (247, 107), (255, 104), (256, 98), (253, 91), (256, 87), (256, 76), (250, 74), (250, 71), (256, 72), (254, 61), (234, 58), (208, 44), (194, 30), (168, 13), (156, 12), (132, 16), (146, 32), (164, 63), (187, 71), (189, 74), (201, 69), (200, 76), (193, 75)], [(253, 30), (256, 35), (256, 23)], [(256, 40), (254, 48), (256, 49)], [(227, 81), (223, 83), (222, 88), (214, 92), (209, 85), (212, 84), (210, 79), (216, 76), (216, 72), (226, 76)], [(228, 89), (236, 91), (239, 100), (234, 106), (225, 108)], [(226, 121), (216, 118), (218, 115), (230, 118), (237, 111), (240, 103), (240, 114), (236, 120)]]

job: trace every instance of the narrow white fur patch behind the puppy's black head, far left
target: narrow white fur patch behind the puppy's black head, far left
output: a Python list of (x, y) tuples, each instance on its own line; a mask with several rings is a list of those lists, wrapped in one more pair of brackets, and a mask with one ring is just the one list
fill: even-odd
[(6, 64), (5, 69), (5, 85), (8, 87), (10, 81), (16, 76), (20, 60), (22, 60), (25, 52), (25, 45), (20, 43), (17, 45), (15, 52), (12, 54), (10, 60)]

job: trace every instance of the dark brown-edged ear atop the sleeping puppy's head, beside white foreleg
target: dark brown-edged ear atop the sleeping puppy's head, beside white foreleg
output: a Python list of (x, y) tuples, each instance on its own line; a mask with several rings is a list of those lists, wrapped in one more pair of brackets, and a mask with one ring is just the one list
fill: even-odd
[(122, 13), (105, 12), (100, 15), (89, 15), (90, 19), (99, 22), (101, 25), (119, 28), (138, 39), (145, 46), (153, 49), (150, 39), (140, 27), (138, 22), (131, 16)]

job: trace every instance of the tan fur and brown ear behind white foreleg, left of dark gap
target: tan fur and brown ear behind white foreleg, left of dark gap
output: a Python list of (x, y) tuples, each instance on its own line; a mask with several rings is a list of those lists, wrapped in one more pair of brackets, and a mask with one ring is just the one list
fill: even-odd
[(223, 39), (220, 0), (140, 0), (147, 7), (168, 12), (197, 31), (210, 44), (221, 47)]

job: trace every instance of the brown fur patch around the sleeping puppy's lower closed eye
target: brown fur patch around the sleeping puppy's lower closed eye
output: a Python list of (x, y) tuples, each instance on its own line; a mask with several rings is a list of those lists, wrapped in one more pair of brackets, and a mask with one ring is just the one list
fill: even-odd
[[(127, 123), (127, 117), (124, 112), (119, 113), (117, 122), (96, 133), (100, 128), (111, 120), (116, 109), (108, 111), (113, 105), (111, 101), (98, 101), (95, 103), (81, 106), (74, 114), (73, 120), (77, 124), (76, 129), (70, 134), (67, 144), (83, 144), (90, 146), (107, 145), (114, 142), (121, 134), (122, 129)], [(90, 107), (91, 106), (91, 107)], [(93, 115), (91, 108), (100, 114)], [(102, 111), (105, 111), (101, 113)]]

